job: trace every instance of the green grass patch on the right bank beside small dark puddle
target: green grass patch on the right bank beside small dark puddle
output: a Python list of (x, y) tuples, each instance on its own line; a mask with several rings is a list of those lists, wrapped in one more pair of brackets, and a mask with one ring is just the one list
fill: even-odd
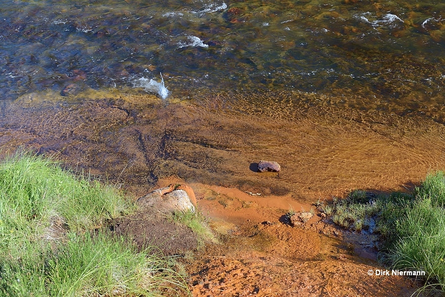
[(330, 207), (333, 221), (344, 228), (361, 230), (365, 226), (360, 222), (375, 220), (382, 241), (380, 262), (391, 269), (425, 271), (421, 290), (445, 292), (444, 172), (429, 174), (411, 194), (354, 191)]

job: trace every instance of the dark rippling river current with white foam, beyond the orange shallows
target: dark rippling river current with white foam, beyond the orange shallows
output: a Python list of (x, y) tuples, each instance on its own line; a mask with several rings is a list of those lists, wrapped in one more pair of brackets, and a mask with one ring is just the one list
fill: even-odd
[(358, 109), (445, 114), (442, 0), (0, 4), (1, 100), (136, 91), (162, 73), (171, 96), (290, 90)]

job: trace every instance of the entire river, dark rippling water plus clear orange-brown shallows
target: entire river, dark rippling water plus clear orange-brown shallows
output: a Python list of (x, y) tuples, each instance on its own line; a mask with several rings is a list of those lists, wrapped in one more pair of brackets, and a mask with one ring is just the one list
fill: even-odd
[[(134, 185), (267, 180), (276, 195), (307, 188), (299, 197), (394, 189), (443, 166), (442, 125), (391, 114), (444, 121), (439, 1), (1, 4), (5, 150)], [(296, 169), (234, 178), (260, 159)]]

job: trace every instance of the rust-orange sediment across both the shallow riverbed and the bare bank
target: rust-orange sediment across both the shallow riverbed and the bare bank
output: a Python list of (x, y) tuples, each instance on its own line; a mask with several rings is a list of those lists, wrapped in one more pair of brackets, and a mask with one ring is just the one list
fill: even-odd
[[(188, 266), (194, 296), (414, 291), (406, 278), (368, 276), (381, 267), (351, 253), (319, 217), (308, 229), (280, 218), (290, 205), (309, 210), (318, 198), (352, 189), (411, 189), (444, 168), (442, 124), (328, 106), (308, 94), (203, 102), (122, 96), (65, 106), (19, 99), (1, 109), (0, 147), (56, 153), (73, 168), (123, 183), (136, 197), (156, 184), (191, 186), (214, 228), (226, 233), (223, 245), (209, 246)], [(277, 161), (280, 174), (256, 172), (263, 159)]]

